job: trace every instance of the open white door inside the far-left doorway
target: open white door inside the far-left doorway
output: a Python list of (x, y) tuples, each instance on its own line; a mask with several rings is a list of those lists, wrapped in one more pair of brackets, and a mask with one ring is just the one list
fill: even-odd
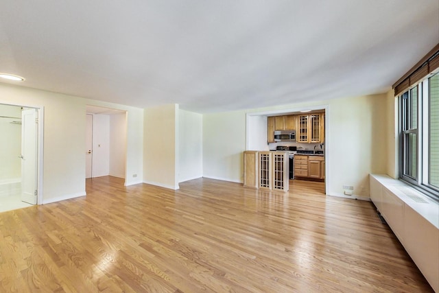
[(37, 110), (21, 111), (21, 200), (29, 204), (37, 198), (37, 133)]

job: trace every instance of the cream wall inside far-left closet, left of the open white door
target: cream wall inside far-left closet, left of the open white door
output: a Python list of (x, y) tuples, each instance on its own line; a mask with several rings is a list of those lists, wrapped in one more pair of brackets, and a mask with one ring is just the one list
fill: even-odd
[[(21, 117), (21, 108), (0, 104), (0, 116)], [(21, 178), (21, 124), (12, 121), (21, 119), (0, 117), (0, 182)]]

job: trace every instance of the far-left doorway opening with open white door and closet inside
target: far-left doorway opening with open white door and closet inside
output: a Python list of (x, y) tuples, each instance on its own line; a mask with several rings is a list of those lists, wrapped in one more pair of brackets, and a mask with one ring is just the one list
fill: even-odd
[(0, 211), (42, 202), (42, 108), (0, 104)]

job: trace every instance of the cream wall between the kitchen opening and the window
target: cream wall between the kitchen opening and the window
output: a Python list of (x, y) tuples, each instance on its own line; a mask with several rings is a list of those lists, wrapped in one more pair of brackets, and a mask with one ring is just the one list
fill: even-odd
[(386, 170), (385, 95), (335, 99), (329, 104), (331, 145), (327, 145), (326, 156), (331, 179), (327, 194), (343, 196), (342, 186), (351, 185), (355, 196), (368, 198), (368, 174)]

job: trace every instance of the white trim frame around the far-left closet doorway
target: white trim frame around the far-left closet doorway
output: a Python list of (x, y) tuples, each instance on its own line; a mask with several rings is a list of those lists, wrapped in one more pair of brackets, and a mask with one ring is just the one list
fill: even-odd
[(0, 104), (8, 105), (8, 106), (18, 106), (24, 108), (35, 108), (38, 115), (38, 143), (36, 145), (37, 154), (36, 154), (36, 205), (43, 204), (43, 166), (44, 166), (44, 106), (42, 105), (32, 105), (32, 104), (11, 104), (8, 102), (2, 102), (0, 100)]

